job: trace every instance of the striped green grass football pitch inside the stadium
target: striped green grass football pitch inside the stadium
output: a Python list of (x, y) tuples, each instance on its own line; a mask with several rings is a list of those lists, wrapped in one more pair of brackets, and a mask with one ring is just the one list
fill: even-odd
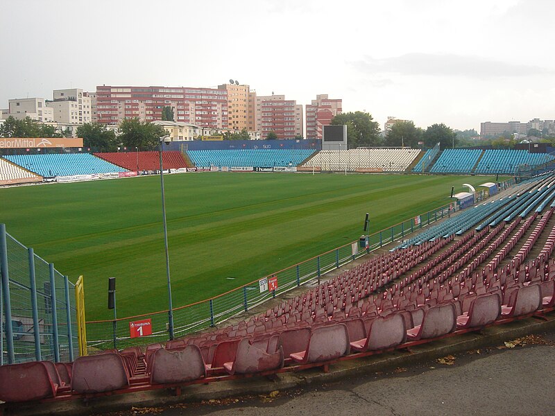
[[(218, 295), (449, 202), (492, 177), (205, 173), (168, 175), (173, 306)], [(167, 309), (160, 177), (0, 189), (0, 223), (76, 281), (87, 320)]]

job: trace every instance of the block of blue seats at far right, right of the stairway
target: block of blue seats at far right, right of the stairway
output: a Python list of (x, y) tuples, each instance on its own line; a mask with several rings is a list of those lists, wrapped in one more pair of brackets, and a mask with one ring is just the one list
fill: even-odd
[(551, 162), (547, 153), (529, 153), (527, 150), (486, 150), (475, 173), (515, 173), (519, 165), (534, 166)]

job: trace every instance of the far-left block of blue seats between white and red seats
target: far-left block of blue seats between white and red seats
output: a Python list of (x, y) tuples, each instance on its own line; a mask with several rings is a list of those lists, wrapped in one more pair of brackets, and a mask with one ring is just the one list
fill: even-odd
[(10, 162), (44, 177), (91, 175), (94, 173), (124, 172), (114, 164), (88, 153), (63, 153), (46, 155), (7, 155)]

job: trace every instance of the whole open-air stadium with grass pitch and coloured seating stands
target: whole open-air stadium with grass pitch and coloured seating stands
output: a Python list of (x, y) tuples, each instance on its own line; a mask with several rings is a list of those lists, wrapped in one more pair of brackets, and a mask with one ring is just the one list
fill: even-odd
[(547, 152), (68, 150), (0, 158), (7, 409), (328, 371), (555, 309)]

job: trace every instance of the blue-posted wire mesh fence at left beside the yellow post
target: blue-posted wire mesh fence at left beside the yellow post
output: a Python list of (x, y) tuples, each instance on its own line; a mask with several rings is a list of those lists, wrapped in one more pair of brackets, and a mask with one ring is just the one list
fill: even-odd
[(73, 361), (78, 355), (74, 285), (0, 224), (0, 365)]

